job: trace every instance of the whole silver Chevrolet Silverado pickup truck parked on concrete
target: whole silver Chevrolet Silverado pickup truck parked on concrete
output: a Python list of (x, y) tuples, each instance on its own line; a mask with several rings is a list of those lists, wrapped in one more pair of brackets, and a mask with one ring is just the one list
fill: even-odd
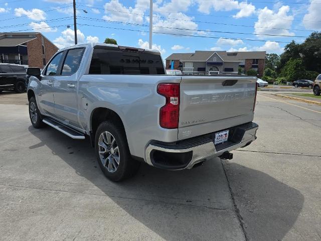
[(27, 74), (33, 127), (87, 137), (112, 181), (140, 162), (182, 170), (231, 159), (256, 139), (256, 77), (167, 75), (159, 52), (108, 44), (61, 49)]

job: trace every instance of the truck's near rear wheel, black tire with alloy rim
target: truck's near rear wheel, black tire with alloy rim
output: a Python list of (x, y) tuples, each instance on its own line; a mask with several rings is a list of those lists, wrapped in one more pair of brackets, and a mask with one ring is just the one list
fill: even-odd
[[(109, 134), (111, 139), (107, 140)], [(125, 131), (119, 125), (108, 121), (99, 125), (95, 136), (95, 151), (102, 172), (111, 181), (122, 181), (133, 176), (139, 169), (140, 163), (131, 157)], [(115, 157), (118, 158), (118, 163)]]

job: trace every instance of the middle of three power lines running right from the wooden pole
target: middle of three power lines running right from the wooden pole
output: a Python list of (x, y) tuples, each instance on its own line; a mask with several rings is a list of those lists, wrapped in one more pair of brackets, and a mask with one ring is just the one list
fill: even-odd
[[(116, 24), (127, 24), (127, 25), (134, 25), (134, 26), (142, 26), (148, 27), (149, 25), (145, 24), (133, 24), (133, 23), (126, 23), (126, 22), (119, 22), (119, 21), (111, 21), (111, 20), (101, 20), (89, 17), (78, 17), (79, 19), (89, 20), (89, 21), (97, 21), (97, 22), (109, 22), (109, 23), (116, 23)], [(308, 36), (291, 36), (291, 35), (277, 35), (277, 34), (253, 34), (253, 33), (239, 33), (239, 32), (227, 32), (227, 31), (214, 31), (214, 30), (200, 30), (200, 29), (185, 29), (185, 28), (174, 28), (174, 27), (163, 27), (163, 26), (156, 26), (153, 25), (153, 28), (164, 28), (164, 29), (175, 29), (175, 30), (187, 30), (187, 31), (199, 31), (199, 32), (208, 32), (208, 33), (226, 33), (226, 34), (243, 34), (243, 35), (258, 35), (258, 36), (274, 36), (274, 37), (295, 37), (295, 38), (307, 38)]]

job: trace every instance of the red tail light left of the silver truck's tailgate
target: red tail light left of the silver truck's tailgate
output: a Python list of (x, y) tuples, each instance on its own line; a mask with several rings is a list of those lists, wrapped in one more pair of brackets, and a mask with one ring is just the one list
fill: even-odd
[(180, 84), (158, 84), (157, 93), (166, 97), (166, 104), (159, 110), (159, 125), (166, 129), (179, 127)]

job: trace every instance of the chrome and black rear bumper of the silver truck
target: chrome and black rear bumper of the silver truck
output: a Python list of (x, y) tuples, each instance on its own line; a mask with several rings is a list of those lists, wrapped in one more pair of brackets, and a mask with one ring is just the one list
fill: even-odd
[(250, 122), (232, 127), (227, 142), (214, 145), (215, 133), (176, 143), (150, 143), (145, 151), (147, 164), (170, 170), (191, 169), (197, 163), (220, 157), (224, 152), (249, 145), (256, 139), (258, 125)]

